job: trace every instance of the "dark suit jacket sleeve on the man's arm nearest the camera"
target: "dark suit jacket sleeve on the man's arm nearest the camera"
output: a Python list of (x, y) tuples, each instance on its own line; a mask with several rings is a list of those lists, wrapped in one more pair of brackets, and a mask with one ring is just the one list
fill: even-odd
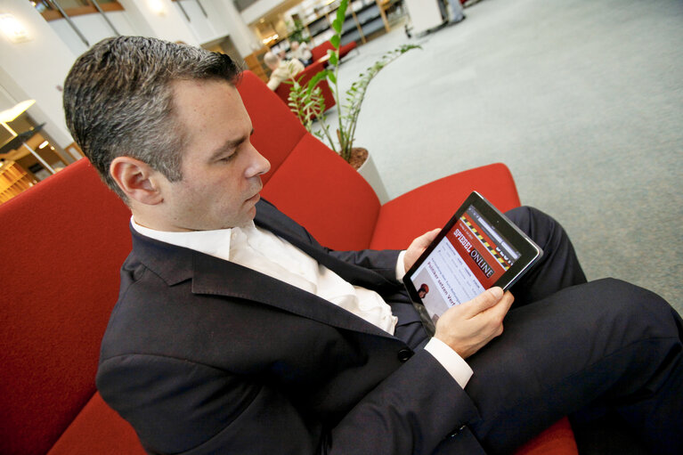
[(476, 418), (467, 394), (424, 351), (333, 427), (272, 386), (163, 356), (109, 359), (97, 384), (146, 450), (158, 454), (429, 454)]

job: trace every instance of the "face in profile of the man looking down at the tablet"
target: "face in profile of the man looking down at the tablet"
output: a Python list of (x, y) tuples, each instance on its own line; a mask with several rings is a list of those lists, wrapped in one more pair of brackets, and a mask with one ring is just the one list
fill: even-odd
[(261, 175), (270, 163), (249, 141), (251, 120), (240, 94), (217, 80), (174, 83), (177, 118), (187, 136), (183, 179), (161, 179), (165, 231), (207, 231), (254, 219)]

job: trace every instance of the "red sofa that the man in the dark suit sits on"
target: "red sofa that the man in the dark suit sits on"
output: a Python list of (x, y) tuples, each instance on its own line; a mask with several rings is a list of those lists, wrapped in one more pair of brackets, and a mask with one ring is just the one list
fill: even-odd
[[(519, 204), (508, 168), (494, 164), (380, 206), (362, 177), (306, 133), (258, 77), (246, 73), (239, 90), (256, 129), (253, 142), (272, 163), (264, 197), (330, 247), (403, 248), (443, 224), (473, 189), (502, 210)], [(329, 207), (325, 215), (320, 207)], [(418, 208), (425, 216), (406, 223), (405, 214)], [(0, 205), (3, 455), (144, 453), (94, 386), (118, 269), (130, 250), (129, 217), (85, 159)], [(575, 455), (566, 418), (518, 453)]]

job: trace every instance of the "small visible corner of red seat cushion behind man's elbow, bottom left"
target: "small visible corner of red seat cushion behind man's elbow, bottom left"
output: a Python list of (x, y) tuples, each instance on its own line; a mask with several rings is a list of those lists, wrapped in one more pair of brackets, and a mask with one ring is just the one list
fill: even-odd
[(133, 427), (99, 393), (81, 410), (47, 455), (145, 455)]

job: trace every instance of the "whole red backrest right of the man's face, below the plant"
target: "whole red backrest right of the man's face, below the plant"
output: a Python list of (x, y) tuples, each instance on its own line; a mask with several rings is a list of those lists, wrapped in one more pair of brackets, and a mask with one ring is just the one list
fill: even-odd
[(256, 75), (245, 71), (238, 90), (254, 125), (252, 143), (271, 161), (264, 198), (330, 248), (368, 248), (379, 213), (370, 185)]

